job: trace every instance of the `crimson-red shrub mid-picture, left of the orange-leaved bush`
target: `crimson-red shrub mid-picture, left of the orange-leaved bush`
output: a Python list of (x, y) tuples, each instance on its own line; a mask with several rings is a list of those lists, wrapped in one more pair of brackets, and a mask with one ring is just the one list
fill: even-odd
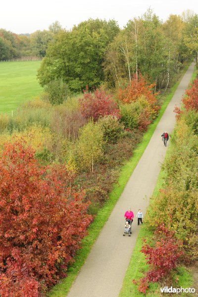
[(83, 99), (80, 99), (80, 111), (86, 118), (98, 118), (105, 115), (113, 115), (120, 118), (118, 105), (113, 101), (111, 95), (107, 95), (102, 89), (97, 89), (93, 93), (84, 91)]

